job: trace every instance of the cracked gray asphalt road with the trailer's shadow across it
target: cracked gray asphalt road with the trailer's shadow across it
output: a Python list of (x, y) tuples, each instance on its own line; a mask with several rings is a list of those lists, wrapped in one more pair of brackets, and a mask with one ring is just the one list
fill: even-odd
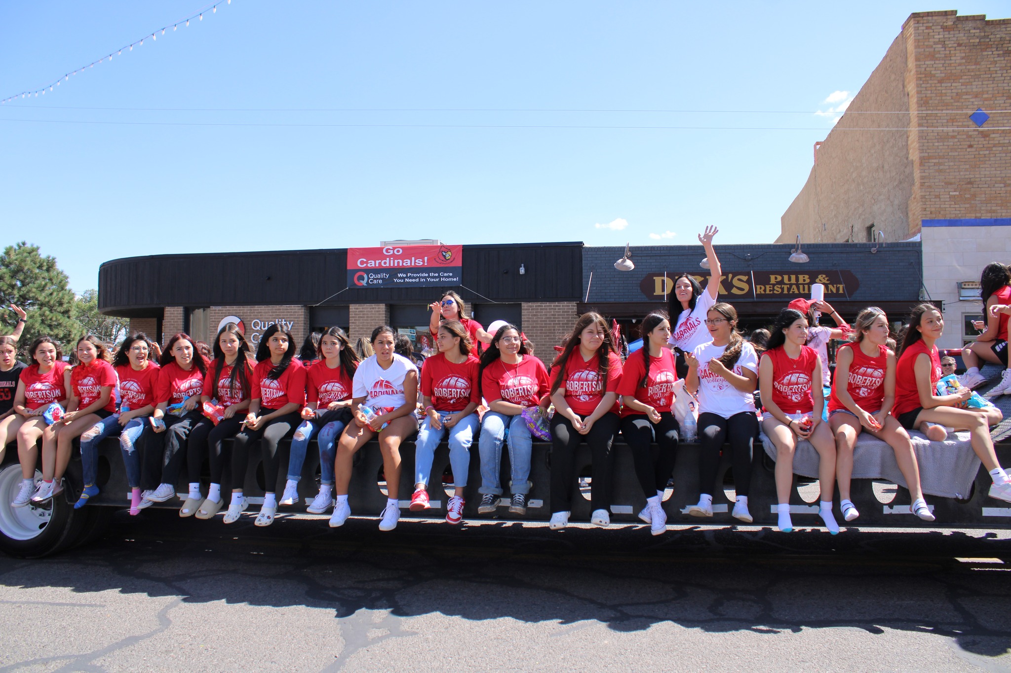
[(1011, 535), (117, 517), (0, 557), (0, 671), (1011, 671)]

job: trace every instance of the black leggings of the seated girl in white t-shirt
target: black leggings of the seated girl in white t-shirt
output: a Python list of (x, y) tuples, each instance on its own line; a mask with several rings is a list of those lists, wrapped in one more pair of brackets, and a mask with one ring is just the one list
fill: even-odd
[(734, 470), (734, 490), (747, 495), (751, 488), (751, 449), (758, 435), (758, 418), (754, 412), (741, 412), (725, 419), (718, 414), (699, 415), (699, 492), (712, 495), (716, 473), (720, 469), (720, 452), (724, 442), (730, 442)]

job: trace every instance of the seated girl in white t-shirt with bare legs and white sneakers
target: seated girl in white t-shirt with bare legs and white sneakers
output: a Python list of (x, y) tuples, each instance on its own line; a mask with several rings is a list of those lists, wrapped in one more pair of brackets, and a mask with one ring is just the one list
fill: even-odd
[(418, 432), (418, 367), (393, 352), (396, 333), (383, 325), (372, 330), (375, 355), (362, 360), (352, 381), (351, 413), (354, 421), (344, 429), (337, 445), (334, 489), (337, 502), (331, 528), (343, 526), (351, 516), (348, 485), (355, 453), (373, 437), (379, 437), (383, 473), (386, 475), (386, 508), (380, 531), (392, 531), (400, 518), (397, 487), (400, 484), (400, 442)]

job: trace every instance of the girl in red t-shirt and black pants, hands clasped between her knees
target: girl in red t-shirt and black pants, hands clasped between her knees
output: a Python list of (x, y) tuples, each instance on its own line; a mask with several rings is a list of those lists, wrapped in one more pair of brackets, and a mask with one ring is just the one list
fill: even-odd
[(611, 339), (608, 323), (599, 313), (584, 313), (575, 321), (565, 347), (551, 365), (551, 529), (568, 525), (572, 491), (578, 482), (575, 452), (580, 442), (592, 454), (589, 521), (609, 526), (614, 455), (618, 434), (618, 384), (622, 360)]

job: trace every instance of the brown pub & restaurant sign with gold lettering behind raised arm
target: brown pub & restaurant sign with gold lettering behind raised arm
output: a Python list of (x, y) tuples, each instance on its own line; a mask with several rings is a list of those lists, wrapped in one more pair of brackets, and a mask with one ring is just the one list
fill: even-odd
[[(674, 292), (674, 278), (679, 271), (647, 273), (639, 284), (642, 294), (649, 299), (664, 299)], [(705, 286), (708, 275), (692, 274), (700, 285)], [(764, 300), (795, 297), (810, 297), (811, 285), (825, 286), (825, 299), (849, 299), (860, 287), (851, 271), (729, 271), (720, 276), (720, 296), (730, 301)]]

